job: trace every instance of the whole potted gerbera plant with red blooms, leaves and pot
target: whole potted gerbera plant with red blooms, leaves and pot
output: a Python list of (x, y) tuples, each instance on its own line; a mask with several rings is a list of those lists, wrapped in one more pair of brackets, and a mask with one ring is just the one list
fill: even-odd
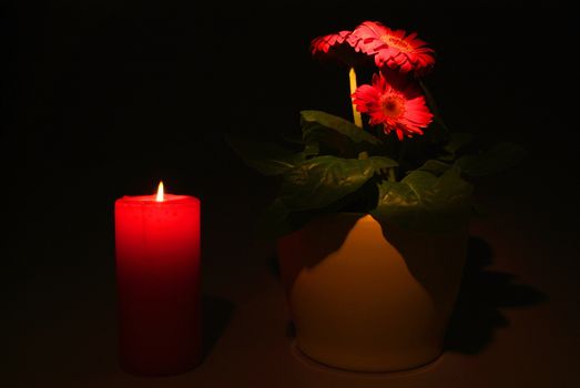
[[(247, 165), (279, 183), (261, 225), (277, 242), (296, 346), (349, 370), (418, 367), (442, 349), (472, 177), (523, 151), (444, 124), (424, 83), (434, 50), (416, 33), (365, 21), (314, 39), (311, 51), (344, 65), (352, 119), (304, 110), (298, 139), (228, 136)], [(370, 69), (369, 83), (357, 84), (358, 69)]]

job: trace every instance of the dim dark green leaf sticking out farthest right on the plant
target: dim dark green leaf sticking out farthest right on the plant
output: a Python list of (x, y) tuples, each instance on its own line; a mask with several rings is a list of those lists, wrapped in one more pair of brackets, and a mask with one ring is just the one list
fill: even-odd
[(482, 176), (509, 169), (520, 162), (526, 151), (516, 143), (502, 142), (476, 155), (464, 155), (455, 165), (466, 175)]

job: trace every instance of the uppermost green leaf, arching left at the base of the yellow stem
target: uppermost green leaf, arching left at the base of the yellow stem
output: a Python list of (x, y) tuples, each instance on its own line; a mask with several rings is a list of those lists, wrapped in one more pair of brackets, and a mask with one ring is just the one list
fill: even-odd
[[(303, 125), (304, 137), (309, 135), (308, 132), (319, 130), (319, 126), (323, 126), (347, 136), (354, 143), (366, 142), (373, 145), (380, 144), (380, 141), (377, 137), (373, 136), (362, 127), (356, 126), (353, 122), (323, 111), (301, 111), (301, 122)], [(312, 125), (313, 123), (317, 123), (318, 125)]]

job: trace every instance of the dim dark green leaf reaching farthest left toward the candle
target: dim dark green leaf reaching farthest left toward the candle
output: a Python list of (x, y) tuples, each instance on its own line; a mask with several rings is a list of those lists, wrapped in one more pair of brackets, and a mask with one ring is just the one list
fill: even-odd
[(304, 161), (303, 153), (294, 153), (274, 142), (251, 141), (227, 134), (226, 141), (246, 165), (264, 175), (278, 175)]

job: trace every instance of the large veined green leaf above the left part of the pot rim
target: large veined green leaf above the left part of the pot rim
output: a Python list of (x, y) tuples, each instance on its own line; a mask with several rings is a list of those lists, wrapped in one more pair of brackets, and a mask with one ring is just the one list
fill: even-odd
[(374, 174), (369, 160), (313, 157), (284, 174), (279, 198), (291, 211), (322, 208), (355, 192)]

